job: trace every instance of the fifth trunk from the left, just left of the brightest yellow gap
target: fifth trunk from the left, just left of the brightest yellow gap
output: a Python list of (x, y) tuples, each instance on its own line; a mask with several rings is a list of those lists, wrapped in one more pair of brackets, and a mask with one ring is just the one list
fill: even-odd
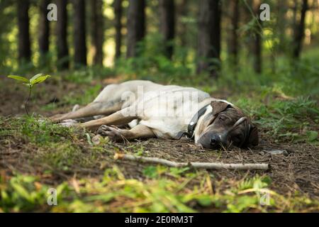
[(91, 0), (91, 38), (94, 65), (103, 65), (103, 0)]

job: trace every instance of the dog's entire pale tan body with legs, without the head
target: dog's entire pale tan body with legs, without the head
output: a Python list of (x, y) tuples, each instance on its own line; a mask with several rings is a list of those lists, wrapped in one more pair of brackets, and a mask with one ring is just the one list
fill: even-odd
[[(211, 115), (214, 109), (213, 105), (209, 104), (213, 103), (236, 108), (228, 101), (213, 99), (206, 92), (192, 87), (134, 80), (122, 84), (110, 84), (91, 104), (68, 114), (53, 116), (52, 120), (62, 121), (102, 115), (104, 117), (81, 123), (80, 126), (90, 130), (100, 128), (99, 132), (102, 135), (107, 135), (113, 140), (152, 137), (174, 139), (180, 131), (187, 131), (187, 126), (198, 109), (208, 106), (205, 114), (198, 118), (194, 130), (194, 139), (197, 143), (203, 131), (209, 126), (207, 121), (211, 121), (211, 118), (208, 115)], [(223, 108), (226, 109), (226, 106)], [(216, 109), (218, 108), (217, 106)], [(125, 124), (130, 126), (130, 130), (115, 127)]]

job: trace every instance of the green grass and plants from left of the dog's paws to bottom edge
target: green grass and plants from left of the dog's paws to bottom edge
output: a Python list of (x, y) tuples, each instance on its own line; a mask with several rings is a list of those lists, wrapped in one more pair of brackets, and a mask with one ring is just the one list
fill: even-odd
[[(133, 179), (125, 177), (121, 163), (110, 155), (118, 148), (108, 140), (92, 144), (92, 135), (83, 129), (65, 128), (35, 117), (1, 117), (0, 128), (0, 144), (9, 148), (17, 144), (23, 161), (29, 160), (31, 166), (42, 170), (40, 175), (0, 172), (0, 211), (318, 211), (318, 201), (304, 194), (287, 196), (272, 190), (267, 175), (229, 181), (189, 167), (150, 165), (142, 168), (142, 179)], [(126, 149), (135, 155), (144, 153), (142, 145)], [(73, 173), (83, 169), (103, 171), (96, 177)], [(43, 179), (44, 175), (50, 178), (60, 174), (69, 177), (50, 184)], [(50, 188), (57, 190), (57, 206), (47, 204)]]

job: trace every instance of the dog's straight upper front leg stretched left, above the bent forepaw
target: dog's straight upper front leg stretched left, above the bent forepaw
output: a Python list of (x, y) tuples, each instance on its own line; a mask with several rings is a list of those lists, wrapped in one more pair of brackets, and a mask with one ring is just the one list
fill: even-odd
[(130, 107), (128, 107), (126, 109), (122, 109), (121, 111), (117, 111), (116, 113), (111, 114), (110, 116), (106, 116), (104, 118), (81, 123), (80, 126), (84, 126), (85, 128), (88, 128), (89, 130), (94, 131), (102, 125), (119, 126), (119, 125), (124, 125), (124, 124), (130, 123), (130, 121), (137, 119), (138, 116), (137, 116), (137, 114), (130, 114), (128, 112), (128, 111), (130, 111), (129, 108)]

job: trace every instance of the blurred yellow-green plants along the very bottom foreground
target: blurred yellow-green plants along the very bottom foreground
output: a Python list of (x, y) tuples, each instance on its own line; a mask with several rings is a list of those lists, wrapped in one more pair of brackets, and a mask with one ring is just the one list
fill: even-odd
[[(172, 172), (157, 167), (162, 173)], [(216, 182), (222, 184), (224, 182)], [(159, 175), (140, 181), (126, 179), (113, 166), (101, 179), (72, 179), (47, 185), (38, 177), (16, 173), (0, 177), (0, 211), (52, 212), (196, 212), (196, 211), (318, 211), (318, 201), (298, 194), (285, 197), (270, 190), (268, 177), (256, 176), (234, 182), (233, 187), (214, 192), (206, 172)], [(55, 189), (57, 205), (49, 206), (50, 188)]]

